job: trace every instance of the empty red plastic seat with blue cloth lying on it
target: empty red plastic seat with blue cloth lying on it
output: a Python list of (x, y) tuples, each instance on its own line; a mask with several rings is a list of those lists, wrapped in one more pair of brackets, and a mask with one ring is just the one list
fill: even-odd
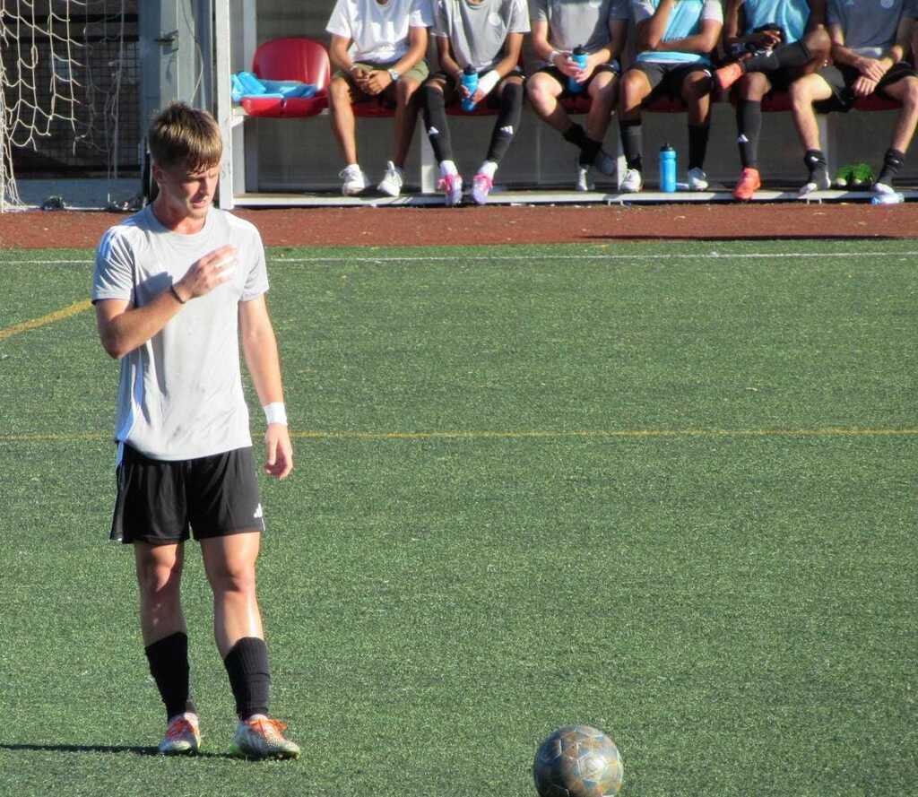
[(316, 85), (311, 97), (244, 97), (241, 105), (252, 117), (312, 117), (329, 106), (329, 54), (320, 41), (305, 37), (265, 41), (252, 58), (252, 72), (265, 80)]

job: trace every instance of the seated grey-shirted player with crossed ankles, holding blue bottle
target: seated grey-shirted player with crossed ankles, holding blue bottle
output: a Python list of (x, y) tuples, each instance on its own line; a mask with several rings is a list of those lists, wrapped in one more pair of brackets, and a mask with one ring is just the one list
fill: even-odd
[[(526, 81), (532, 108), (544, 121), (579, 148), (577, 190), (592, 190), (590, 167), (612, 174), (615, 161), (602, 149), (610, 117), (618, 98), (621, 66), (618, 58), (628, 34), (629, 0), (573, 0), (557, 5), (532, 0), (532, 50), (541, 59), (539, 69)], [(582, 68), (571, 56), (577, 48), (587, 52)], [(587, 129), (571, 121), (559, 99), (579, 93), (590, 99)]]

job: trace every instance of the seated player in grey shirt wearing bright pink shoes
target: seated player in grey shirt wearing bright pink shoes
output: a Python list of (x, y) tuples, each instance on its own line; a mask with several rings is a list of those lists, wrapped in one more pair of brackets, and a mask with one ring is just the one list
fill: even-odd
[[(472, 181), (472, 198), (484, 205), (500, 159), (520, 127), (523, 87), (519, 62), (522, 37), (528, 32), (525, 0), (451, 0), (434, 8), (440, 72), (422, 86), (421, 96), (424, 125), (440, 164), (438, 188), (447, 206), (462, 201), (463, 180), (453, 161), (446, 104), (469, 98), (476, 105), (487, 103), (498, 109), (485, 161)], [(466, 66), (477, 73), (477, 88), (471, 94), (462, 84)]]

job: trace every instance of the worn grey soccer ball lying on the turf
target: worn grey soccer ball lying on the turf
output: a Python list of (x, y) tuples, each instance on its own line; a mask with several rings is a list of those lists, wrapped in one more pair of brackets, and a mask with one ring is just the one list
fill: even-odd
[(621, 789), (619, 749), (589, 725), (565, 725), (539, 746), (532, 764), (540, 797), (609, 797)]

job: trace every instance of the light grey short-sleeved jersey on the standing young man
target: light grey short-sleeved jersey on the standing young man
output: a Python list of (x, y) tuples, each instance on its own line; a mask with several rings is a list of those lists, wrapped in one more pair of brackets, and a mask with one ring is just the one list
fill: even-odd
[(239, 303), (268, 289), (258, 230), (210, 208), (204, 228), (182, 235), (152, 206), (112, 227), (95, 256), (93, 301), (143, 307), (220, 246), (239, 253), (229, 281), (191, 299), (153, 337), (121, 359), (115, 437), (160, 460), (196, 459), (252, 445), (242, 392)]

